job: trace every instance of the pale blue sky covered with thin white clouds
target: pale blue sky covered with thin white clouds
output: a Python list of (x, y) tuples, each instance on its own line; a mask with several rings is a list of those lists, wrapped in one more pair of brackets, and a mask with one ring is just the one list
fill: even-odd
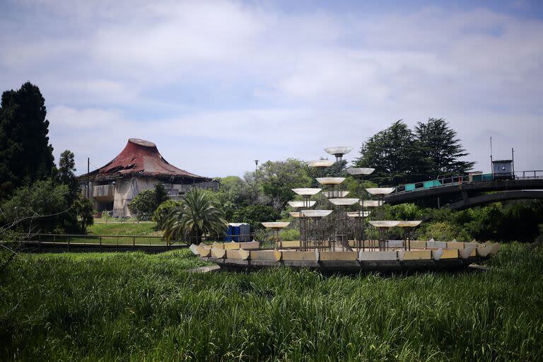
[[(0, 0), (0, 90), (40, 87), (77, 173), (135, 137), (207, 177), (445, 118), (543, 170), (543, 1)], [(333, 156), (329, 156), (333, 158)]]

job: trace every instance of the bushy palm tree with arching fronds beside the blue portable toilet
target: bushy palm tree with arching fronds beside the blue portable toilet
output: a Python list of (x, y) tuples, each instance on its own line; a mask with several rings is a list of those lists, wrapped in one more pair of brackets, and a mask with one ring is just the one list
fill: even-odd
[(220, 235), (226, 225), (221, 211), (211, 204), (209, 192), (194, 187), (166, 218), (164, 237), (168, 241), (185, 237), (199, 244), (203, 234)]

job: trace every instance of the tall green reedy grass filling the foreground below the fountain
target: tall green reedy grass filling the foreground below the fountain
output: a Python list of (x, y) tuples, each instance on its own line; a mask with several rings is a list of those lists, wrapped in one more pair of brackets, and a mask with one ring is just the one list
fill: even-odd
[(187, 250), (23, 255), (0, 275), (0, 360), (542, 361), (543, 250), (490, 271), (187, 273)]

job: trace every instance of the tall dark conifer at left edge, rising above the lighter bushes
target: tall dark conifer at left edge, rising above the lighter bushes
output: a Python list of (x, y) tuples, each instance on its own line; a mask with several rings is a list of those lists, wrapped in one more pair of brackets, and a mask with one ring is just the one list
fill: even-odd
[(53, 147), (40, 88), (26, 82), (2, 93), (0, 104), (0, 198), (52, 175)]

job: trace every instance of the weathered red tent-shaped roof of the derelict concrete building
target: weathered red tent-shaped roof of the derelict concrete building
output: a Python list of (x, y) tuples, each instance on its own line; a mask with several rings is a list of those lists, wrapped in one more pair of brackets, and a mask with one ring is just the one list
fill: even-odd
[(187, 173), (185, 170), (170, 165), (160, 155), (156, 144), (143, 139), (129, 139), (127, 146), (117, 157), (102, 168), (89, 173), (89, 175), (92, 175), (95, 180), (108, 180), (135, 175), (160, 178), (185, 177), (199, 179), (200, 181), (210, 180), (208, 177)]

